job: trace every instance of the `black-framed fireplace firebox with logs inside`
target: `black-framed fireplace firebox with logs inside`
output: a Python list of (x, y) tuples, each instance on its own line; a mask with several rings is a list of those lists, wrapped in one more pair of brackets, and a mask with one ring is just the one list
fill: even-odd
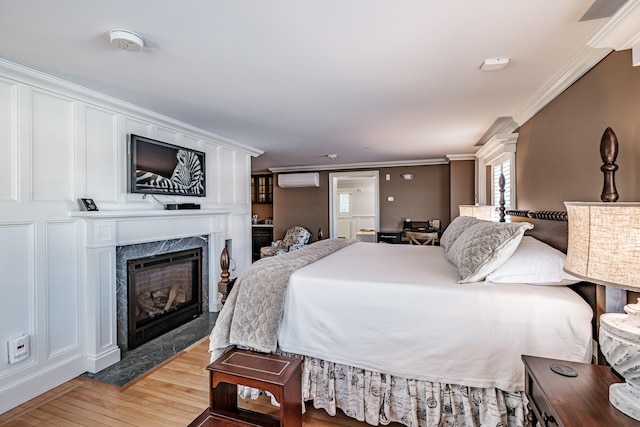
[(202, 313), (202, 248), (127, 261), (128, 349)]

